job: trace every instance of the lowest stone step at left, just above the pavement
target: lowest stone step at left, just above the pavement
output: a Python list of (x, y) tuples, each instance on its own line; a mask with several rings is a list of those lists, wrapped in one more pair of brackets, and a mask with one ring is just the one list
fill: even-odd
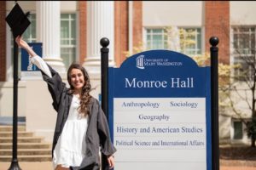
[[(52, 161), (50, 156), (17, 156), (18, 161)], [(12, 161), (12, 156), (0, 156), (1, 161)]]

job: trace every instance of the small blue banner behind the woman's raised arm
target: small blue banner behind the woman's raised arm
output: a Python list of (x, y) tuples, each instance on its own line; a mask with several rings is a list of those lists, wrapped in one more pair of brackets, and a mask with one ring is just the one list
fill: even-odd
[[(42, 42), (32, 42), (28, 45), (38, 56), (42, 57)], [(38, 67), (32, 64), (29, 54), (24, 48), (21, 48), (21, 71), (39, 71)]]

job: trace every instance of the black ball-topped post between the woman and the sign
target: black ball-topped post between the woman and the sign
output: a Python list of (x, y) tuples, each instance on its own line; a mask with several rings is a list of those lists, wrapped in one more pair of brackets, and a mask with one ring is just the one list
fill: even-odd
[[(101, 77), (102, 77), (102, 111), (108, 120), (108, 52), (109, 40), (107, 37), (101, 39)], [(102, 170), (108, 170), (107, 156), (102, 154)]]

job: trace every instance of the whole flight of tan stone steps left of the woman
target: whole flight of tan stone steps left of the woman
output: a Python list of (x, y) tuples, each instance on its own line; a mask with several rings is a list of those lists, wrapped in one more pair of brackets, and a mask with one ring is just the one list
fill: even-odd
[[(44, 142), (44, 137), (26, 132), (26, 126), (18, 126), (17, 157), (18, 161), (52, 161), (51, 144)], [(13, 127), (0, 125), (0, 162), (12, 161)]]

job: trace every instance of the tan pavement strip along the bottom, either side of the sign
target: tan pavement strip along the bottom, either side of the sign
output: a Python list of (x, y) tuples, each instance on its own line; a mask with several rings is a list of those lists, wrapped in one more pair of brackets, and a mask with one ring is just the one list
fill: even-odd
[[(20, 161), (19, 166), (21, 170), (53, 170), (51, 161), (38, 161), (38, 162), (26, 162)], [(10, 162), (0, 162), (0, 170), (8, 170)], [(219, 170), (256, 170), (256, 167), (232, 167), (221, 166)]]

